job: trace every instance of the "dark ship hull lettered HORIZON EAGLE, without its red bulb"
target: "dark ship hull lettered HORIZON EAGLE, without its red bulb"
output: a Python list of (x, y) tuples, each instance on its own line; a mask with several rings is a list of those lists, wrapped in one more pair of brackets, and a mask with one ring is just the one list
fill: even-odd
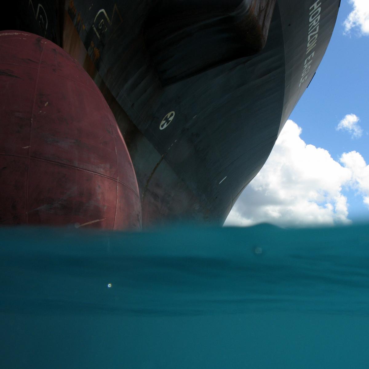
[[(11, 4), (1, 29), (58, 45), (99, 88), (134, 168), (143, 228), (224, 223), (313, 79), (340, 5), (38, 1)], [(85, 224), (104, 228), (97, 220)]]

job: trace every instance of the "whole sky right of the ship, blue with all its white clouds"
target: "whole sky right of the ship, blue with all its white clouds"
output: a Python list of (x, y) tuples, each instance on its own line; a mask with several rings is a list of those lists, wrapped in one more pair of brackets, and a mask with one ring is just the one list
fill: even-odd
[(368, 72), (369, 0), (342, 0), (313, 81), (225, 225), (369, 220)]

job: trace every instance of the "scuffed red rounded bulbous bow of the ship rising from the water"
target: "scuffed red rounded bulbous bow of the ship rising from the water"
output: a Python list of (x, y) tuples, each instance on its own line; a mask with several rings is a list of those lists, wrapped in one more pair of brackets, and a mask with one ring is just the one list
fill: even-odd
[(138, 229), (137, 180), (113, 113), (49, 40), (0, 32), (0, 224)]

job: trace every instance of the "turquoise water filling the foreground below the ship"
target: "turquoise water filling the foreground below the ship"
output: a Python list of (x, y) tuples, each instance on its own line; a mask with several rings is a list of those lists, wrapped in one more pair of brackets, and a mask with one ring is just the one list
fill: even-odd
[(0, 229), (2, 368), (368, 368), (369, 226)]

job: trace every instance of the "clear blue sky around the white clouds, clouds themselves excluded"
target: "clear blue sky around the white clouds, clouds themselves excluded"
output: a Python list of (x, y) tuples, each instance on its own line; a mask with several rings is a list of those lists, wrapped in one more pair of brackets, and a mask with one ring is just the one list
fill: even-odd
[[(361, 2), (369, 3), (369, 0)], [(362, 34), (358, 27), (344, 34), (344, 22), (353, 9), (353, 4), (341, 1), (327, 52), (290, 119), (302, 128), (301, 139), (325, 148), (334, 160), (338, 161), (342, 153), (355, 150), (368, 164), (369, 34)], [(360, 138), (352, 139), (349, 133), (335, 129), (347, 114), (359, 117), (363, 130)], [(356, 192), (353, 189), (344, 191), (349, 203), (349, 218), (368, 220), (368, 207), (360, 196), (355, 196)]]

